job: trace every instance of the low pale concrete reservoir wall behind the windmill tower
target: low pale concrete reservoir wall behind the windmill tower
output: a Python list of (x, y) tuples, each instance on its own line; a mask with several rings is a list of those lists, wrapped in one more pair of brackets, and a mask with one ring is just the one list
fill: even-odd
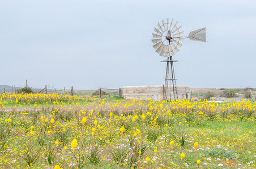
[[(177, 92), (178, 99), (190, 99), (191, 90), (189, 86), (177, 86)], [(130, 100), (147, 100), (151, 98), (152, 100), (160, 101), (164, 99), (164, 86), (125, 86), (121, 88), (121, 96)], [(173, 96), (173, 87), (168, 86), (168, 100), (173, 100)]]

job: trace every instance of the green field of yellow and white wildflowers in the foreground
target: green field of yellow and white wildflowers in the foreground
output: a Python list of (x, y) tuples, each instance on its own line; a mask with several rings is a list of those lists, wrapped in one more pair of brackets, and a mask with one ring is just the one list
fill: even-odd
[(0, 94), (0, 168), (256, 168), (255, 102)]

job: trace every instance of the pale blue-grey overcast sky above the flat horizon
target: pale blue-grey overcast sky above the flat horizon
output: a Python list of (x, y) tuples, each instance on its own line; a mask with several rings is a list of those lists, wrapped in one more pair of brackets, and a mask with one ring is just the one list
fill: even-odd
[(0, 0), (0, 84), (97, 89), (161, 85), (167, 57), (152, 47), (157, 23), (184, 35), (173, 56), (177, 85), (256, 87), (256, 1)]

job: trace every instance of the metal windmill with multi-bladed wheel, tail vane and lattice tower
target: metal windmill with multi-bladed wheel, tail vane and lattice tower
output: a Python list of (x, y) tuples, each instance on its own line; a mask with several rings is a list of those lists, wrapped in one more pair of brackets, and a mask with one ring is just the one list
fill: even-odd
[[(167, 57), (167, 70), (165, 74), (165, 83), (164, 83), (164, 100), (172, 99), (172, 96), (168, 96), (168, 82), (172, 86), (173, 90), (173, 99), (178, 99), (176, 78), (174, 74), (173, 63), (177, 60), (173, 60), (174, 56), (178, 51), (178, 48), (182, 46), (180, 42), (184, 39), (189, 38), (191, 41), (200, 41), (206, 42), (206, 28), (194, 30), (190, 32), (188, 36), (182, 37), (184, 31), (181, 32), (182, 26), (178, 26), (178, 21), (174, 24), (174, 19), (169, 22), (164, 23), (164, 20), (161, 21), (162, 24), (157, 24), (158, 28), (155, 28), (155, 33), (153, 35), (153, 47), (160, 56)], [(176, 96), (175, 96), (176, 95)]]

